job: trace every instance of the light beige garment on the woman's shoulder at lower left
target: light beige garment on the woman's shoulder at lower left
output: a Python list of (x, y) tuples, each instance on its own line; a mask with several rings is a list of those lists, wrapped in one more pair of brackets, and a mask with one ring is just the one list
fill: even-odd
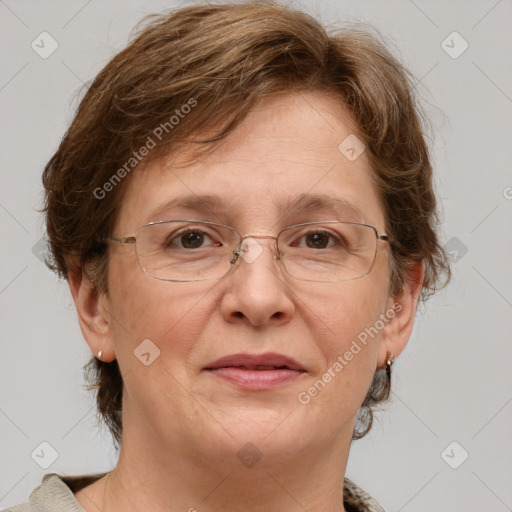
[(85, 512), (71, 489), (56, 473), (44, 475), (39, 487), (30, 494), (28, 503), (8, 508), (5, 512)]

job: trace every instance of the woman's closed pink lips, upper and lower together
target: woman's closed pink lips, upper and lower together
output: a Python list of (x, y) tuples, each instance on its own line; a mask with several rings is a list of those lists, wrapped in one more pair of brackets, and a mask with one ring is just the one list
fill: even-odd
[(252, 391), (272, 389), (306, 372), (294, 359), (273, 352), (231, 354), (217, 359), (204, 369), (215, 377)]

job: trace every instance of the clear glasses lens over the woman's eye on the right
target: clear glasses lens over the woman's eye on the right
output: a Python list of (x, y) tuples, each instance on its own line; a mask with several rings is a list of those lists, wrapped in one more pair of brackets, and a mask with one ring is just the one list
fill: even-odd
[(283, 265), (292, 277), (306, 281), (348, 281), (372, 269), (377, 232), (350, 222), (291, 226), (278, 238)]

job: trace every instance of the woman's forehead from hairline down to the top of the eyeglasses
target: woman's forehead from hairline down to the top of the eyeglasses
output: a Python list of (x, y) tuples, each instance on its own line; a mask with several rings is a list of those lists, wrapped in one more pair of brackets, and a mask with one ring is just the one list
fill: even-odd
[(184, 149), (135, 169), (117, 228), (127, 231), (196, 212), (231, 225), (253, 222), (254, 231), (323, 211), (382, 229), (364, 151), (349, 159), (340, 150), (355, 132), (349, 113), (332, 97), (302, 93), (268, 99), (207, 156), (191, 160)]

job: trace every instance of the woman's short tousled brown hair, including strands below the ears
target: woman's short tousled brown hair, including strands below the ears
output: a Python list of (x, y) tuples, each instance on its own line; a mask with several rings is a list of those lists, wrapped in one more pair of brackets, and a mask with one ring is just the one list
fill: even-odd
[[(48, 265), (66, 279), (87, 265), (98, 293), (108, 293), (103, 239), (112, 234), (127, 176), (141, 153), (145, 161), (157, 158), (206, 128), (213, 135), (197, 150), (210, 150), (262, 98), (324, 91), (348, 107), (366, 145), (392, 239), (390, 295), (403, 287), (408, 265), (423, 261), (426, 299), (442, 274), (449, 279), (449, 266), (436, 234), (432, 167), (413, 89), (409, 73), (368, 30), (328, 34), (312, 17), (275, 2), (152, 15), (93, 80), (46, 165)], [(98, 412), (120, 443), (117, 361), (93, 358), (87, 368)], [(372, 407), (389, 393), (390, 378), (377, 370), (354, 439), (368, 432)]]

